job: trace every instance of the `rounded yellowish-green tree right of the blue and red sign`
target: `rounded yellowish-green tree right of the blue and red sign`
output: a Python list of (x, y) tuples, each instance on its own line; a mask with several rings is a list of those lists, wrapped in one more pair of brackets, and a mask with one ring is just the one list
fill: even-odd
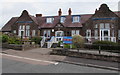
[(73, 44), (76, 46), (76, 48), (79, 51), (79, 48), (83, 48), (84, 47), (84, 38), (81, 35), (74, 35), (72, 37), (72, 42)]

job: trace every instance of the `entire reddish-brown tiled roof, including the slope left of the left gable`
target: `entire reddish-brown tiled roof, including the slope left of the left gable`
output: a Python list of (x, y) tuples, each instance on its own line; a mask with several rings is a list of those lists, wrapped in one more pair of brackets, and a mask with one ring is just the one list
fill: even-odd
[[(120, 16), (120, 11), (114, 12), (116, 15)], [(62, 23), (64, 27), (82, 27), (83, 23), (85, 23), (93, 14), (85, 14), (85, 15), (80, 15), (80, 22), (79, 23), (73, 23), (72, 22), (72, 16), (74, 15), (65, 15), (66, 19), (65, 22)], [(31, 19), (39, 25), (39, 28), (53, 28), (56, 24), (60, 23), (60, 16), (48, 16), (48, 17), (53, 17), (54, 21), (53, 23), (46, 23), (46, 18), (47, 17), (35, 17), (31, 16)], [(64, 16), (64, 15), (62, 15)], [(11, 18), (2, 28), (2, 31), (11, 31), (11, 25), (13, 25), (19, 17), (13, 17)]]

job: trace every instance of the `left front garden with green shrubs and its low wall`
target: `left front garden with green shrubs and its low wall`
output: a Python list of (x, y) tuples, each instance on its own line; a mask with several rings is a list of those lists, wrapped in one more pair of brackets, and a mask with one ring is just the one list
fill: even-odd
[(2, 34), (1, 42), (2, 48), (9, 48), (15, 50), (27, 50), (31, 48), (36, 48), (40, 46), (41, 37), (32, 37), (28, 38), (20, 38), (13, 34)]

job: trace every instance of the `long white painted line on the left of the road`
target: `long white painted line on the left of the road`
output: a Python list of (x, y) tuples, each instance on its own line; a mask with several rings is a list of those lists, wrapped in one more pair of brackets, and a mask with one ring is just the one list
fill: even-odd
[(54, 65), (58, 64), (58, 62), (39, 60), (39, 59), (33, 59), (33, 58), (27, 58), (27, 57), (20, 57), (20, 56), (9, 55), (9, 54), (2, 54), (2, 53), (0, 53), (0, 55), (10, 56), (10, 57), (15, 57), (15, 58), (20, 58), (20, 59), (26, 59), (26, 60), (32, 60), (32, 61), (38, 61), (38, 62), (46, 62), (46, 63), (51, 63), (51, 64), (54, 64)]

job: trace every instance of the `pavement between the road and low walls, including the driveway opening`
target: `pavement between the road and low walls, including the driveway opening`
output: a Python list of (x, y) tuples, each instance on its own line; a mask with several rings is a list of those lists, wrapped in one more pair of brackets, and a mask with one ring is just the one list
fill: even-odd
[(27, 58), (32, 58), (32, 59), (70, 63), (70, 64), (75, 64), (75, 65), (80, 65), (80, 66), (89, 66), (89, 67), (96, 67), (96, 68), (103, 68), (103, 69), (110, 69), (110, 70), (120, 70), (119, 69), (120, 63), (117, 63), (117, 62), (108, 62), (108, 61), (93, 60), (93, 59), (50, 55), (51, 51), (52, 49), (47, 49), (47, 48), (36, 48), (36, 49), (31, 49), (31, 50), (26, 50), (26, 51), (4, 49), (2, 53), (9, 54), (9, 55), (15, 55), (15, 56), (21, 56), (21, 57), (27, 57)]

